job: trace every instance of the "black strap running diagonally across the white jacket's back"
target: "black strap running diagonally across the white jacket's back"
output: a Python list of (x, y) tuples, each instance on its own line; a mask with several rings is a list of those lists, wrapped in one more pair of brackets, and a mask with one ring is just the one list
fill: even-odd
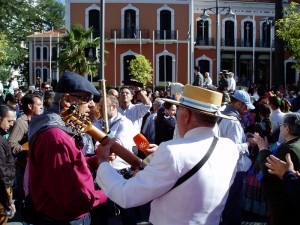
[(214, 139), (213, 139), (208, 151), (206, 152), (205, 156), (190, 171), (188, 171), (186, 174), (184, 174), (182, 177), (180, 177), (177, 180), (177, 182), (175, 183), (175, 185), (170, 189), (170, 191), (172, 189), (176, 188), (177, 186), (179, 186), (180, 184), (182, 184), (183, 182), (185, 182), (191, 176), (193, 176), (206, 163), (206, 161), (211, 156), (214, 148), (216, 147), (217, 141), (218, 141), (218, 138), (214, 136)]

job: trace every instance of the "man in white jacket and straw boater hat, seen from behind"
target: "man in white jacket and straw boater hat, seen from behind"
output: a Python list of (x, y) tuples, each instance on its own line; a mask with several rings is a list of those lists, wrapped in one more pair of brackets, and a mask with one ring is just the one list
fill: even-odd
[[(219, 112), (222, 94), (185, 85), (180, 102), (164, 100), (178, 106), (181, 138), (162, 142), (149, 165), (129, 180), (108, 162), (114, 141), (99, 145), (97, 183), (123, 208), (152, 201), (150, 222), (153, 224), (217, 225), (238, 160), (235, 144), (227, 138), (216, 138), (213, 132), (219, 117), (230, 119)], [(193, 173), (191, 169), (196, 164), (199, 167)], [(188, 172), (192, 175), (187, 176)]]

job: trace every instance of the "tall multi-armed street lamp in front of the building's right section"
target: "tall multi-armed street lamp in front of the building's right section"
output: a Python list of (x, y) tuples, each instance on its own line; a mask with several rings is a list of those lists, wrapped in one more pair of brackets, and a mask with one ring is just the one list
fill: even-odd
[[(217, 72), (217, 79), (218, 79), (218, 72), (221, 71), (221, 54), (220, 54), (220, 13), (227, 9), (227, 13), (225, 16), (227, 18), (235, 17), (235, 14), (232, 12), (231, 7), (219, 7), (219, 0), (216, 0), (216, 7), (211, 7), (207, 9), (203, 9), (203, 13), (200, 16), (202, 20), (207, 20), (209, 18), (209, 15), (207, 14), (207, 11), (211, 11), (212, 13), (216, 14), (216, 72)], [(236, 21), (235, 21), (236, 22)]]

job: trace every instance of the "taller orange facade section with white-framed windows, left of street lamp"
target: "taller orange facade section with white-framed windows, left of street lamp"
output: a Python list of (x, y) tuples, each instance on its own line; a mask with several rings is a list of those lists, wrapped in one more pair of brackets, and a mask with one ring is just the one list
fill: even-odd
[[(83, 3), (84, 2), (84, 3)], [(81, 24), (99, 31), (99, 1), (67, 1), (66, 28)], [(129, 78), (128, 66), (142, 54), (153, 67), (153, 84), (187, 82), (188, 1), (105, 1), (105, 79), (120, 86)], [(167, 4), (166, 4), (167, 3)], [(69, 18), (69, 20), (68, 20)]]

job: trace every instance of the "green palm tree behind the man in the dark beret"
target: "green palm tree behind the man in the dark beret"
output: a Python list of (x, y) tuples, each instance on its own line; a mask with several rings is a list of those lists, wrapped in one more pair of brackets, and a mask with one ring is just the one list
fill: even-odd
[[(99, 38), (91, 38), (93, 29), (85, 30), (81, 25), (73, 25), (60, 43), (59, 67), (61, 70), (73, 71), (82, 76), (98, 73), (95, 62), (85, 57), (85, 49), (99, 46)], [(98, 51), (99, 52), (99, 51)]]

